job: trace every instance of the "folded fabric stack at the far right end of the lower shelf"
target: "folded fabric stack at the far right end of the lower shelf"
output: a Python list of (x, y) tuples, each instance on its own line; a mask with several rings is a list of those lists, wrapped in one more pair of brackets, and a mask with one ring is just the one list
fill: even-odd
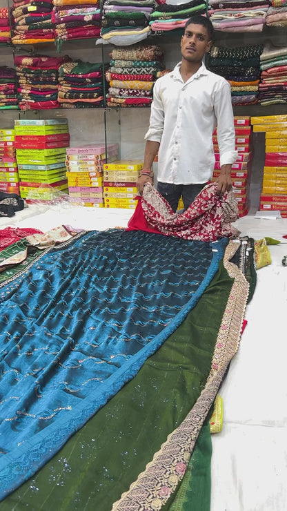
[(260, 56), (261, 77), (259, 102), (261, 105), (287, 103), (287, 44), (274, 46), (266, 41)]

